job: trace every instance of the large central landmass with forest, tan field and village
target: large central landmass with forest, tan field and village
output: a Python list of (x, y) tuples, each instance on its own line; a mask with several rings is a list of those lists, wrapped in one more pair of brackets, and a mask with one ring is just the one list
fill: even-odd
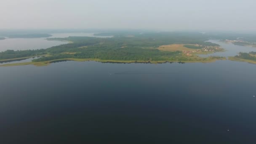
[[(103, 35), (103, 34), (102, 34)], [(118, 35), (109, 38), (66, 37), (48, 38), (47, 40), (64, 40), (72, 43), (53, 46), (47, 49), (27, 51), (4, 51), (0, 61), (24, 59), (39, 56), (31, 62), (3, 64), (1, 66), (48, 65), (56, 61), (99, 61), (115, 63), (166, 63), (166, 62), (212, 62), (225, 60), (225, 57), (208, 54), (224, 51), (218, 44), (206, 42), (202, 34), (183, 34), (173, 32)]]

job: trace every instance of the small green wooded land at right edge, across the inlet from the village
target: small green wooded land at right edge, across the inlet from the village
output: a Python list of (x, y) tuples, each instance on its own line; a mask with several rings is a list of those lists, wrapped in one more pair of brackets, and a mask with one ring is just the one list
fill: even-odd
[(249, 53), (240, 52), (237, 56), (230, 56), (231, 61), (243, 61), (251, 64), (256, 64), (256, 52), (251, 51)]

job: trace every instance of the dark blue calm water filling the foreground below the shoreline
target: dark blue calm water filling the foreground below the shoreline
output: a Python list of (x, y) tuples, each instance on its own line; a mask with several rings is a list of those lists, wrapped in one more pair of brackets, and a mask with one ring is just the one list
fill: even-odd
[(256, 65), (0, 67), (0, 144), (254, 144)]

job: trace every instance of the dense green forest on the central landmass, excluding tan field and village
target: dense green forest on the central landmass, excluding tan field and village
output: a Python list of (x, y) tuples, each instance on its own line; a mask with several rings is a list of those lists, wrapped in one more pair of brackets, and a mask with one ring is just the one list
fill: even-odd
[[(27, 56), (43, 56), (37, 61), (49, 61), (54, 59), (102, 59), (102, 60), (141, 60), (141, 61), (165, 61), (165, 60), (188, 60), (182, 57), (181, 51), (160, 51), (160, 45), (186, 44), (190, 48), (201, 48), (202, 46), (218, 46), (217, 44), (205, 42), (208, 40), (198, 33), (145, 33), (134, 34), (127, 37), (125, 34), (115, 35), (111, 38), (99, 37), (67, 37), (49, 38), (47, 40), (67, 40), (72, 43), (53, 46), (47, 49), (13, 51), (8, 50), (0, 53), (0, 59), (15, 59)], [(189, 45), (190, 44), (190, 45)], [(202, 45), (194, 47), (195, 44)]]

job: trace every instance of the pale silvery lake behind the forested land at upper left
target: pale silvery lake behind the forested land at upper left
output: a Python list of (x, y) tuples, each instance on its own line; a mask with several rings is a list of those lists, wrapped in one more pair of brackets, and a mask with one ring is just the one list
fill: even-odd
[(41, 48), (50, 48), (52, 46), (66, 44), (68, 42), (45, 40), (46, 38), (54, 37), (69, 37), (69, 36), (86, 36), (86, 37), (112, 37), (112, 36), (94, 36), (93, 33), (54, 33), (51, 37), (41, 38), (7, 38), (0, 40), (0, 51), (6, 50), (33, 50)]

